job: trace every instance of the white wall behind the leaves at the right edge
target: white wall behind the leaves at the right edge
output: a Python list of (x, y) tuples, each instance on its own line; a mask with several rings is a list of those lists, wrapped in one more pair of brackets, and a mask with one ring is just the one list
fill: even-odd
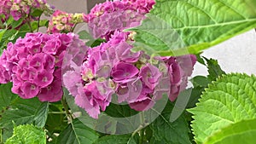
[[(225, 72), (256, 74), (256, 32), (254, 30), (233, 37), (203, 53), (207, 58), (217, 59)], [(204, 66), (196, 64), (194, 75), (207, 75)]]

